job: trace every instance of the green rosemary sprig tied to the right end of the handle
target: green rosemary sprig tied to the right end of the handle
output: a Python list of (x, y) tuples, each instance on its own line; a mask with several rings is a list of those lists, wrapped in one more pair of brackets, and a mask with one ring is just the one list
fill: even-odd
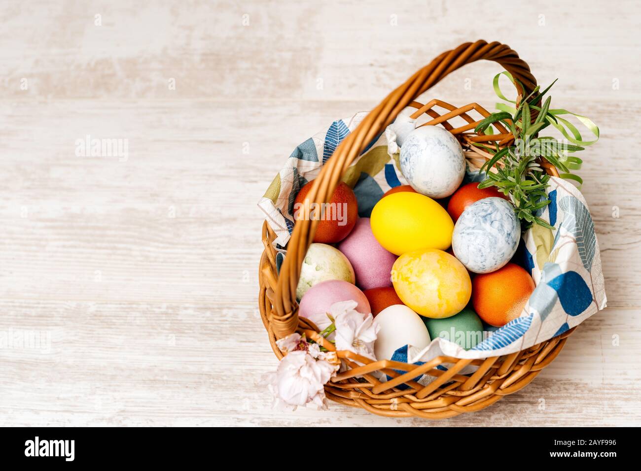
[[(502, 149), (499, 149), (498, 144), (495, 149), (483, 146), (494, 155), (481, 167), (480, 172), (485, 172), (486, 179), (478, 187), (495, 186), (499, 192), (508, 196), (523, 229), (532, 224), (553, 228), (537, 215), (539, 210), (550, 203), (545, 193), (550, 177), (540, 165), (542, 158), (567, 173), (569, 169), (565, 163), (576, 159), (567, 154), (583, 150), (583, 147), (565, 144), (550, 136), (538, 137), (538, 133), (550, 124), (547, 117), (556, 122), (556, 117), (549, 111), (551, 97), (547, 97), (543, 106), (540, 106), (543, 95), (554, 82), (540, 94), (540, 87), (535, 88), (521, 101), (513, 115), (505, 111), (492, 113), (474, 129), (477, 133), (491, 131), (492, 124), (501, 122), (512, 131), (514, 144)], [(536, 119), (532, 119), (533, 113), (538, 113)], [(495, 172), (490, 172), (492, 168)]]

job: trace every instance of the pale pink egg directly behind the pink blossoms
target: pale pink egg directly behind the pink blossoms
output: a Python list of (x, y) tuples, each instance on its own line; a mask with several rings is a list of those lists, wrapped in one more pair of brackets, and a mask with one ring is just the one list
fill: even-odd
[(356, 286), (338, 279), (322, 281), (318, 285), (312, 286), (303, 295), (298, 315), (311, 320), (322, 330), (331, 324), (331, 320), (326, 314), (329, 307), (335, 302), (351, 300), (358, 303), (356, 311), (363, 314), (369, 314), (372, 311), (367, 297)]

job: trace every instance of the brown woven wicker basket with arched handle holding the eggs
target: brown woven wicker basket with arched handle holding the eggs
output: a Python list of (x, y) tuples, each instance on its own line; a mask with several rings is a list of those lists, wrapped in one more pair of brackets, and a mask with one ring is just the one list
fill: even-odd
[[(512, 134), (500, 124), (497, 125), (500, 134), (474, 133), (474, 127), (479, 120), (470, 116), (470, 113), (478, 113), (481, 119), (489, 115), (476, 103), (456, 108), (439, 100), (432, 100), (426, 104), (415, 101), (419, 95), (450, 72), (481, 59), (497, 62), (512, 74), (517, 83), (518, 99), (522, 99), (524, 94), (529, 94), (536, 87), (536, 79), (531, 74), (528, 64), (508, 45), (499, 42), (488, 44), (479, 40), (440, 54), (389, 94), (345, 137), (333, 156), (323, 165), (316, 179), (317, 183), (308, 195), (310, 201), (328, 201), (354, 158), (359, 156), (366, 145), (383, 132), (407, 106), (417, 108), (412, 115), (414, 118), (423, 113), (431, 117), (423, 126), (440, 124), (456, 136), (465, 149), (466, 158), (476, 167), (483, 163), (489, 154), (470, 145), (470, 142), (496, 142), (499, 147), (511, 144)], [(524, 90), (520, 89), (519, 83)], [(439, 112), (435, 108), (444, 111)], [(468, 124), (454, 128), (449, 122), (454, 117), (461, 117)], [(558, 176), (553, 165), (544, 161), (542, 166), (548, 174)], [(299, 220), (296, 223), (279, 275), (276, 270), (276, 250), (272, 245), (275, 235), (267, 223), (263, 224), (262, 240), (265, 251), (260, 260), (258, 302), (272, 349), (279, 359), (283, 354), (276, 347), (276, 340), (296, 331), (304, 332), (308, 338), (321, 343), (331, 351), (335, 350), (332, 343), (324, 342), (322, 336), (317, 334), (317, 328), (312, 322), (299, 318), (297, 313), (296, 286), (303, 258), (312, 244), (317, 224), (317, 220)], [(326, 384), (326, 396), (340, 404), (361, 407), (371, 413), (388, 417), (447, 418), (462, 412), (478, 411), (501, 397), (524, 388), (556, 358), (572, 331), (574, 329), (506, 356), (487, 359), (439, 356), (420, 366), (390, 360), (372, 361), (353, 352), (339, 351), (338, 357), (351, 369), (339, 373)], [(453, 365), (445, 371), (437, 369), (442, 363)], [(459, 374), (469, 365), (478, 367), (474, 374)], [(385, 372), (392, 379), (381, 383), (371, 374), (376, 370)], [(399, 370), (405, 373), (400, 374), (397, 372)], [(421, 374), (429, 374), (436, 379), (427, 386), (422, 386), (413, 381), (413, 378)], [(401, 384), (405, 384), (406, 387), (398, 388)]]

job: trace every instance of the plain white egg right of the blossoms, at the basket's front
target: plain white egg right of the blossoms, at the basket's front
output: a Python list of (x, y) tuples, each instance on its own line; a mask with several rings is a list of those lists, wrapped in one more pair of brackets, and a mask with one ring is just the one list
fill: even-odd
[(404, 345), (422, 350), (429, 345), (428, 328), (420, 316), (403, 304), (385, 308), (374, 318), (381, 326), (374, 342), (376, 359), (392, 359), (394, 352)]

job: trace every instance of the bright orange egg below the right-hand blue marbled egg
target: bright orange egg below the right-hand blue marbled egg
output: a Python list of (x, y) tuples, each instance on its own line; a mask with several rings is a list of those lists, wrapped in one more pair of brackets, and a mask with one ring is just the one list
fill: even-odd
[(487, 324), (501, 327), (520, 316), (534, 288), (526, 270), (508, 263), (495, 272), (474, 276), (472, 305)]

